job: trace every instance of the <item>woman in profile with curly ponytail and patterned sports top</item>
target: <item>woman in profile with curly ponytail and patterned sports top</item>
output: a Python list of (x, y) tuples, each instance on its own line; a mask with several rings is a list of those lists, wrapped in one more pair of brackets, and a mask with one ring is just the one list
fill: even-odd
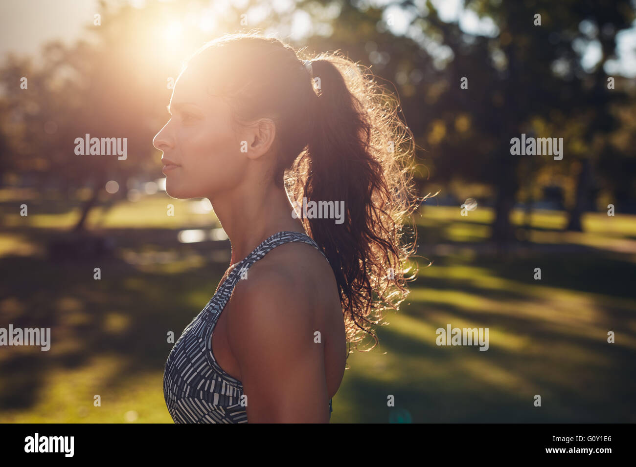
[(399, 240), (418, 201), (396, 101), (337, 53), (303, 62), (249, 33), (198, 50), (169, 112), (165, 191), (208, 198), (232, 244), (167, 359), (172, 419), (328, 423), (347, 342), (408, 294)]

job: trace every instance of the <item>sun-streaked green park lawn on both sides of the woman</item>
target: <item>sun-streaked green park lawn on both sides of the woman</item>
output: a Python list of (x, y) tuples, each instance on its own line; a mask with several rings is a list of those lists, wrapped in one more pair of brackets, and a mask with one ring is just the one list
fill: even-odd
[[(0, 193), (0, 327), (50, 327), (53, 345), (0, 348), (0, 423), (172, 423), (166, 334), (179, 337), (230, 260), (228, 242), (177, 234), (218, 227), (214, 214), (162, 192), (95, 209), (88, 224), (115, 257), (53, 264), (45, 242), (79, 205), (33, 199), (20, 217), (22, 202)], [(559, 231), (562, 212), (537, 211), (526, 247), (502, 261), (484, 248), (493, 215), (422, 208), (418, 279), (380, 344), (350, 355), (332, 423), (636, 421), (636, 216), (589, 213), (576, 234)], [(437, 346), (448, 324), (488, 328), (488, 350)]]

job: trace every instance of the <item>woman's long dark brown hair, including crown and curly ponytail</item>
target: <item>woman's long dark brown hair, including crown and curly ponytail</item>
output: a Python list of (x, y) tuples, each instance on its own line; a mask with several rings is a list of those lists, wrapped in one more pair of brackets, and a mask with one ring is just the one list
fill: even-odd
[(397, 115), (397, 98), (338, 51), (297, 53), (259, 32), (219, 37), (185, 65), (214, 83), (211, 91), (230, 105), (233, 125), (274, 119), (278, 162), (271, 176), (291, 201), (344, 201), (342, 224), (301, 220), (335, 274), (347, 342), (357, 348), (367, 333), (377, 344), (371, 325), (382, 321), (382, 311), (399, 309), (406, 281), (417, 273), (415, 263), (407, 264), (417, 229), (408, 245), (402, 241), (404, 221), (420, 205), (415, 144)]

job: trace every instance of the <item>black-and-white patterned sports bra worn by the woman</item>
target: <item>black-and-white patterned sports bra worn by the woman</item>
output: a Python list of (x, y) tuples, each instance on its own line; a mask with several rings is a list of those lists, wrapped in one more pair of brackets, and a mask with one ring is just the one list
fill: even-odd
[[(269, 236), (237, 263), (177, 339), (163, 370), (163, 398), (174, 423), (247, 423), (247, 412), (241, 404), (242, 382), (227, 374), (216, 362), (212, 333), (243, 271), (273, 248), (291, 241), (313, 245), (327, 258), (307, 234), (281, 231)], [(332, 411), (330, 398), (330, 420)]]

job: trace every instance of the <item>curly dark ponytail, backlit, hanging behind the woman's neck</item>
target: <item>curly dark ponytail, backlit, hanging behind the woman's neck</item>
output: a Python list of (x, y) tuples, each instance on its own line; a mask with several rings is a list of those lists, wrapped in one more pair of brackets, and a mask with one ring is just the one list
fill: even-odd
[(307, 149), (291, 171), (293, 198), (344, 202), (342, 224), (302, 221), (336, 276), (347, 341), (359, 342), (366, 332), (377, 344), (370, 325), (380, 323), (384, 309), (399, 309), (408, 295), (404, 283), (414, 278), (404, 275), (414, 242), (400, 243), (403, 220), (419, 205), (411, 184), (413, 140), (396, 100), (356, 64), (333, 53), (311, 65), (317, 95), (308, 109)]

